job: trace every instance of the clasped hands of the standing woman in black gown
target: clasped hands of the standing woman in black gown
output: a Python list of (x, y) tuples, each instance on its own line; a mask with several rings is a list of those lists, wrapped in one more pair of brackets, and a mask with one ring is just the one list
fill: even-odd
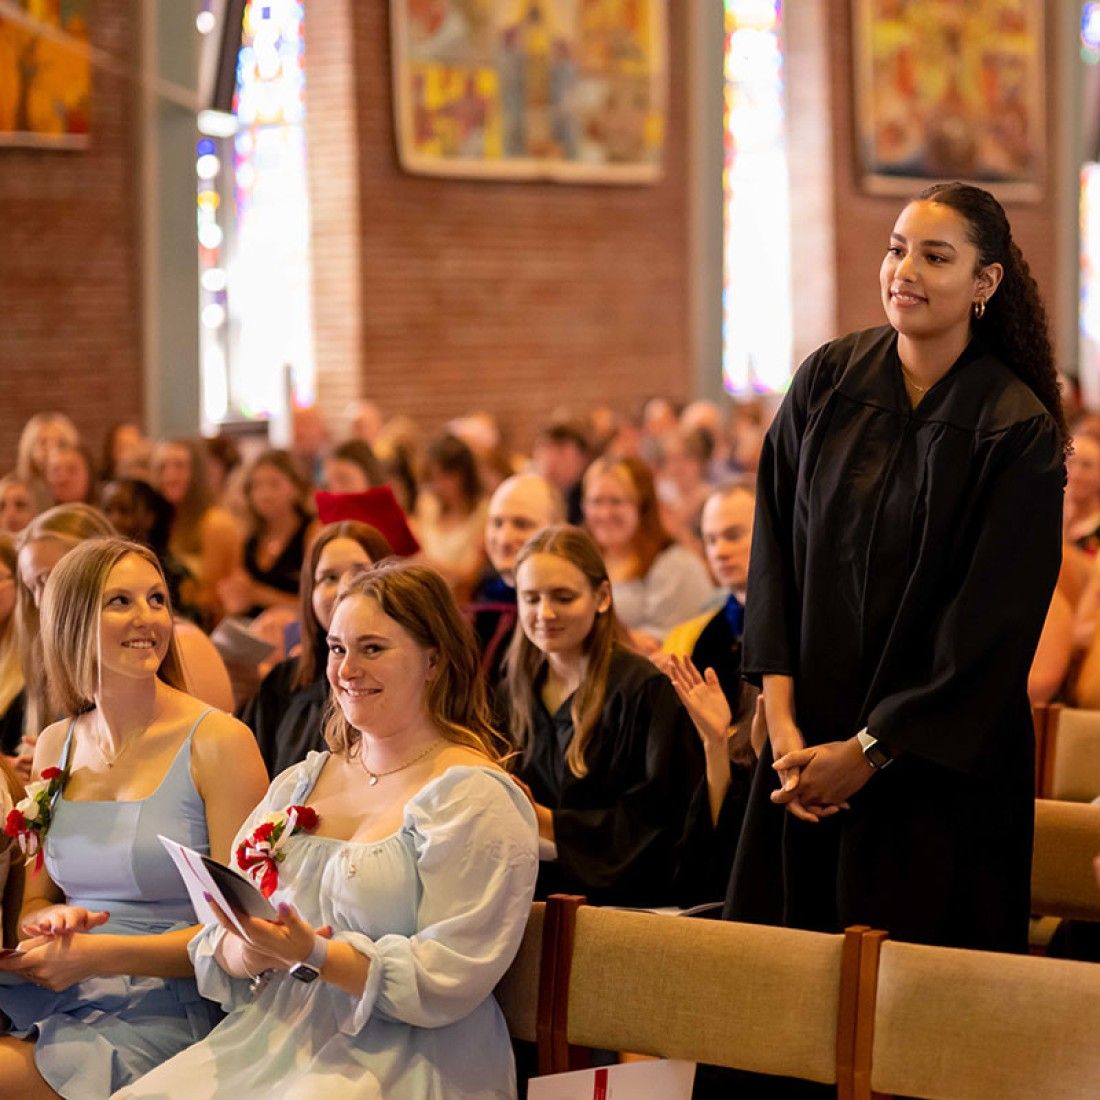
[(770, 729), (768, 736), (780, 780), (771, 801), (800, 821), (817, 823), (847, 810), (848, 799), (875, 772), (855, 737), (807, 748), (793, 723)]

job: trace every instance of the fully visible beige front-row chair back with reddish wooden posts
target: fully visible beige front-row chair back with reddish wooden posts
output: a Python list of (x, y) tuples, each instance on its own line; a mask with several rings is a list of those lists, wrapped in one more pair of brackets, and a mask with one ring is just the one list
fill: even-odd
[(860, 930), (822, 935), (574, 911), (559, 941), (557, 1071), (584, 1065), (591, 1048), (630, 1050), (837, 1084), (840, 1098), (851, 1094)]

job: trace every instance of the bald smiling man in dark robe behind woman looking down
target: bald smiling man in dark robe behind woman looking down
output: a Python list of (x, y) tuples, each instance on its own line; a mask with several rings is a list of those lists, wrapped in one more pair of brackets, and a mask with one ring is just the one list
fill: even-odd
[(516, 625), (516, 558), (536, 531), (560, 524), (561, 493), (538, 474), (517, 474), (502, 482), (488, 502), (485, 552), (491, 569), (481, 578), (468, 614), (482, 651), (482, 669), (492, 692)]

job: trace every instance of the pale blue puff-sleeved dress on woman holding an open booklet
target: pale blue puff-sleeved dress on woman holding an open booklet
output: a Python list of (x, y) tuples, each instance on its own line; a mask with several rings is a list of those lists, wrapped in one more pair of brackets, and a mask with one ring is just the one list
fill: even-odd
[[(327, 752), (272, 784), (263, 816), (309, 804)], [(323, 980), (249, 983), (215, 961), (224, 933), (191, 942), (199, 989), (230, 1013), (201, 1043), (118, 1093), (144, 1100), (510, 1100), (508, 1030), (493, 997), (519, 947), (538, 871), (530, 803), (503, 772), (453, 767), (406, 804), (392, 836), (354, 844), (299, 833), (272, 900), (371, 960), (352, 997)]]

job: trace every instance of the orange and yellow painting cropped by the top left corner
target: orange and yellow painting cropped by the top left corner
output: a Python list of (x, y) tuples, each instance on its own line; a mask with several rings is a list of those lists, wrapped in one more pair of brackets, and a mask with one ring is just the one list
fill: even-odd
[(88, 144), (90, 0), (0, 3), (0, 145)]

